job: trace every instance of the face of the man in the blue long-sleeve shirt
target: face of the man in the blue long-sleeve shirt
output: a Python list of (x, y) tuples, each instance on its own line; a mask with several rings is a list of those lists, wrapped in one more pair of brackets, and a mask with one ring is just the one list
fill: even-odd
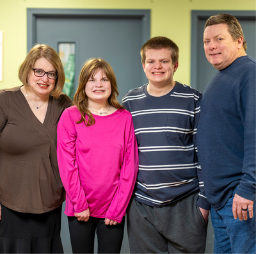
[(222, 70), (245, 54), (243, 37), (233, 40), (227, 24), (208, 26), (204, 31), (204, 51), (209, 63)]

